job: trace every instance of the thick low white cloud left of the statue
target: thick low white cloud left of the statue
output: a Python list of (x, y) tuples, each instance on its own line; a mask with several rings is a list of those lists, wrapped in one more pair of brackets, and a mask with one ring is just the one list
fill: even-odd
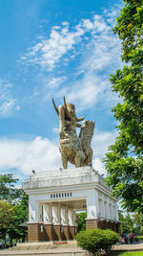
[(51, 171), (61, 166), (58, 147), (50, 140), (36, 137), (32, 141), (0, 141), (0, 169), (18, 169), (25, 175), (31, 170)]

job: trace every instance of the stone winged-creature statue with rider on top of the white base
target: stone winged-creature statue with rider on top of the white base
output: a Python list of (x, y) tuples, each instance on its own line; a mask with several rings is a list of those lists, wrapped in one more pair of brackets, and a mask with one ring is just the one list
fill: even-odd
[[(63, 168), (67, 169), (68, 161), (81, 167), (89, 165), (92, 162), (92, 135), (94, 129), (94, 122), (84, 121), (83, 126), (79, 122), (83, 121), (85, 117), (77, 118), (75, 114), (75, 106), (67, 104), (64, 97), (64, 105), (55, 105), (53, 99), (52, 103), (54, 109), (59, 117), (59, 136)], [(81, 128), (79, 136), (77, 136), (76, 128)]]

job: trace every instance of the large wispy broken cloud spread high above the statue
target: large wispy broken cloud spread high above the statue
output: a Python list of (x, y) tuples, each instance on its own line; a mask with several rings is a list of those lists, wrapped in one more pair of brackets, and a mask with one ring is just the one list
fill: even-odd
[[(116, 97), (111, 94), (109, 76), (121, 67), (120, 42), (112, 33), (119, 9), (115, 6), (104, 10), (102, 15), (81, 19), (72, 28), (64, 21), (53, 26), (47, 37), (38, 37), (24, 57), (27, 63), (41, 67), (44, 100), (48, 99), (45, 95), (54, 94), (57, 98), (66, 95), (68, 101), (77, 103), (78, 110), (99, 102), (104, 107), (114, 105)], [(77, 55), (78, 61), (71, 69), (68, 65)], [(65, 67), (69, 68), (67, 74)]]

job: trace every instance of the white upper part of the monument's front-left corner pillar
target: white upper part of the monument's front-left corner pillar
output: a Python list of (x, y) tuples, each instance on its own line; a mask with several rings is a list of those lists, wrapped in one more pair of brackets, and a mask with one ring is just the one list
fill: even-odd
[(29, 196), (29, 222), (40, 221), (40, 205), (34, 196)]

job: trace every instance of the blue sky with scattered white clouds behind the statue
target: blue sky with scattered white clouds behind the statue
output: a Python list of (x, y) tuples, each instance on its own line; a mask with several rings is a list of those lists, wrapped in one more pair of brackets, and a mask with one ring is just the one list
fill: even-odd
[(0, 170), (24, 180), (61, 167), (56, 105), (95, 121), (93, 167), (116, 136), (109, 76), (121, 68), (117, 0), (0, 0)]

